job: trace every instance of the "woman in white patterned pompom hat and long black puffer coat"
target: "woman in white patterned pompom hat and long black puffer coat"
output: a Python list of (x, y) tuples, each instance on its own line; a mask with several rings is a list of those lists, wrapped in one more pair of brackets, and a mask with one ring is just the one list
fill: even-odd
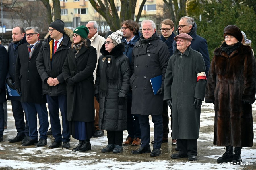
[(127, 92), (129, 89), (129, 59), (123, 54), (121, 30), (112, 33), (102, 46), (95, 81), (95, 97), (100, 103), (99, 127), (107, 130), (108, 145), (101, 152), (123, 151), (123, 130), (127, 125)]

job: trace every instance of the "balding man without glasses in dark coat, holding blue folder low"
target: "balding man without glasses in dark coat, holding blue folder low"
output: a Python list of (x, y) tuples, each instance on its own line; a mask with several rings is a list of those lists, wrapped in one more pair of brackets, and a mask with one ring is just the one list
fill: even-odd
[[(25, 37), (25, 30), (19, 26), (14, 27), (12, 29), (12, 39), (13, 41), (9, 44), (7, 51), (9, 67), (6, 75), (6, 83), (11, 89), (15, 89), (15, 65), (19, 46), (27, 42)], [(18, 95), (10, 96), (9, 93), (7, 93), (7, 100), (11, 100), (15, 128), (17, 130), (17, 135), (13, 139), (8, 139), (9, 142), (21, 141), (21, 143), (25, 143), (29, 140), (28, 122), (26, 113), (23, 112), (20, 99), (21, 97)], [(24, 121), (24, 116), (26, 123)]]

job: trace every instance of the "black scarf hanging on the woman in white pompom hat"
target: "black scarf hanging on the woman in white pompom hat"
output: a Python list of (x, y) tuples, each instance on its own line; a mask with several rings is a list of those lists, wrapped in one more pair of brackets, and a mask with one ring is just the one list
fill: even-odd
[[(108, 89), (108, 83), (115, 84), (118, 76), (117, 76), (117, 68), (116, 68), (116, 63), (115, 63), (115, 58), (117, 56), (113, 55), (104, 55), (104, 58), (102, 61), (103, 62), (103, 67), (102, 67), (102, 76), (100, 78), (100, 93), (101, 95), (105, 95)], [(108, 62), (110, 61), (110, 63)]]

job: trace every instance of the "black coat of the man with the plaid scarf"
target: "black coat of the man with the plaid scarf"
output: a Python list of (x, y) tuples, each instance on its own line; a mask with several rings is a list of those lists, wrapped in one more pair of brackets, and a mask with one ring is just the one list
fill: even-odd
[(30, 59), (28, 44), (19, 46), (15, 68), (15, 88), (21, 88), (21, 102), (46, 103), (46, 97), (42, 94), (42, 80), (36, 68), (36, 58), (41, 45), (40, 41)]

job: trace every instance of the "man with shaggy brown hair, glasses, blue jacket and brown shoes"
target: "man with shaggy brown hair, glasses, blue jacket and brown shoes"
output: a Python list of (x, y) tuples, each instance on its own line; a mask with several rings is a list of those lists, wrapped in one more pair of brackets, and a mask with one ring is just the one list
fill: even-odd
[[(132, 52), (135, 43), (140, 39), (141, 33), (139, 32), (139, 24), (133, 20), (126, 20), (121, 23), (123, 31), (123, 38), (121, 42), (125, 45), (125, 54), (132, 63)], [(131, 114), (131, 87), (127, 93), (127, 132), (128, 137), (123, 142), (123, 145), (138, 146), (141, 144), (141, 128), (139, 124), (139, 117), (137, 114)]]

